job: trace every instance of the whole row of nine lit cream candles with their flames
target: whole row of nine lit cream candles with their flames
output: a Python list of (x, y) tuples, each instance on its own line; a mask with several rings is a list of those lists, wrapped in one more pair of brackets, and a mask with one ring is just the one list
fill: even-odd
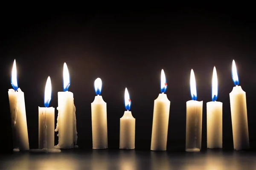
[[(239, 86), (236, 64), (233, 60), (232, 78), (235, 84), (230, 93), (230, 108), (233, 129), (233, 144), (235, 150), (249, 149), (247, 123), (246, 94)], [(9, 89), (9, 103), (12, 119), (12, 134), (14, 151), (29, 150), (28, 130), (24, 93), (18, 88), (16, 61), (12, 68)], [(55, 108), (49, 107), (52, 96), (51, 79), (48, 77), (44, 94), (44, 108), (38, 107), (38, 147), (42, 150), (72, 149), (78, 147), (76, 130), (76, 107), (73, 93), (68, 91), (70, 77), (67, 64), (63, 68), (63, 92), (58, 92), (58, 118), (54, 130)], [(91, 103), (93, 149), (108, 148), (107, 103), (101, 94), (102, 80), (94, 82), (96, 96)], [(170, 101), (165, 94), (167, 82), (164, 71), (161, 71), (161, 93), (154, 100), (153, 125), (151, 135), (151, 150), (166, 150)], [(201, 150), (203, 101), (197, 101), (195, 74), (190, 74), (191, 98), (186, 102), (186, 151)], [(222, 102), (217, 102), (218, 79), (216, 68), (212, 75), (212, 102), (207, 102), (207, 147), (222, 148)], [(120, 149), (135, 148), (135, 119), (131, 111), (131, 99), (125, 88), (125, 112), (120, 118)], [(54, 146), (54, 131), (58, 131), (58, 144)]]

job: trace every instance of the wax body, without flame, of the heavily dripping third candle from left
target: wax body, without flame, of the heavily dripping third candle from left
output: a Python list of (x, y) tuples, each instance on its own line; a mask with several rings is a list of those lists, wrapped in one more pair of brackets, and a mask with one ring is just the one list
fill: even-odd
[(58, 92), (58, 146), (63, 149), (74, 148), (74, 98), (70, 91)]

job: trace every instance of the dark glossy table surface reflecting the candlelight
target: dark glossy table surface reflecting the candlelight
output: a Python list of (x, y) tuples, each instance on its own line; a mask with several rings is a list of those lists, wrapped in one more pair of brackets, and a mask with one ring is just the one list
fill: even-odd
[(256, 151), (62, 150), (2, 154), (1, 170), (256, 170)]

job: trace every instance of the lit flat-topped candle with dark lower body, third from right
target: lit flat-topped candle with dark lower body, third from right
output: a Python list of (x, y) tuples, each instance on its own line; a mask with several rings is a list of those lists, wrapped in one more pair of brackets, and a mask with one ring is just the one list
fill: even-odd
[(201, 150), (203, 101), (198, 102), (193, 69), (190, 73), (190, 93), (192, 100), (186, 102), (186, 151)]

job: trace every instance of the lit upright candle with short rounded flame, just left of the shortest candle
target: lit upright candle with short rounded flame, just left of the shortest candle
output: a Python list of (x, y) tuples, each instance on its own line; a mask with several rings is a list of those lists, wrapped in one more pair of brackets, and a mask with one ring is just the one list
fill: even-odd
[(102, 91), (100, 78), (94, 81), (94, 89), (96, 96), (91, 103), (93, 149), (106, 149), (108, 148), (107, 103), (100, 96)]

